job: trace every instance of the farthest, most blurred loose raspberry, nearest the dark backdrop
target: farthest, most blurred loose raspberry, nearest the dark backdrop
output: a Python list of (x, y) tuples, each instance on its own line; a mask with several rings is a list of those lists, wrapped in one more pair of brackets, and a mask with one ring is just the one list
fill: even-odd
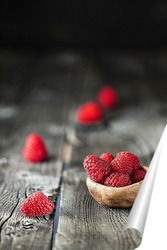
[(112, 87), (106, 85), (97, 93), (97, 101), (103, 109), (112, 109), (118, 104), (118, 96)]

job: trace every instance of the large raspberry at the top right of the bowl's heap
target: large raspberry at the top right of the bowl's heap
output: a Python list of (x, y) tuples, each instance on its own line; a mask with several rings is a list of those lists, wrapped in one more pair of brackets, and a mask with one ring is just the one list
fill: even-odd
[(130, 174), (133, 169), (139, 169), (140, 163), (136, 155), (130, 152), (119, 152), (111, 162), (111, 167), (120, 173)]

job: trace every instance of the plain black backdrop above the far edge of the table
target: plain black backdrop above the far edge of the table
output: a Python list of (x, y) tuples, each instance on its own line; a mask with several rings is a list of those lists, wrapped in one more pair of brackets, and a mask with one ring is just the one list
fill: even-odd
[(167, 1), (4, 0), (0, 46), (166, 48)]

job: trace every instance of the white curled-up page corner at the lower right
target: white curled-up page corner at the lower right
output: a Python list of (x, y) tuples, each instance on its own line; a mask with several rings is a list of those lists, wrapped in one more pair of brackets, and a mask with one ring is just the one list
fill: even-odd
[(167, 249), (166, 205), (167, 126), (124, 226), (124, 229), (134, 228), (143, 235), (137, 250)]

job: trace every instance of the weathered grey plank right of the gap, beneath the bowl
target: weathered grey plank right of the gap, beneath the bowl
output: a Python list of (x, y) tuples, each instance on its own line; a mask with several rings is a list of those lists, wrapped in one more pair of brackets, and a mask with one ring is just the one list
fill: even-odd
[[(152, 61), (147, 61), (145, 65), (145, 58), (140, 58), (141, 64), (137, 58), (132, 57), (130, 60), (125, 57), (123, 64), (114, 66), (117, 71), (113, 72), (113, 78), (109, 69), (112, 69), (114, 59), (109, 57), (107, 60), (105, 57), (93, 60), (91, 70), (87, 72), (86, 79), (89, 79), (89, 76), (93, 79), (93, 73), (99, 77), (100, 82), (113, 79), (121, 101), (117, 111), (109, 114), (107, 126), (101, 125), (86, 130), (75, 127), (76, 107), (83, 100), (87, 100), (86, 88), (82, 92), (82, 99), (78, 99), (77, 106), (70, 112), (71, 130), (67, 138), (74, 148), (71, 151), (69, 168), (64, 173), (55, 250), (130, 250), (136, 248), (141, 241), (135, 230), (123, 230), (130, 209), (107, 208), (93, 200), (85, 185), (86, 174), (82, 166), (88, 154), (100, 155), (105, 151), (116, 154), (122, 150), (137, 154), (143, 165), (150, 163), (166, 123), (165, 112), (160, 112), (162, 107), (166, 107), (166, 103), (160, 98), (161, 95), (157, 97), (155, 94), (156, 81), (153, 81), (153, 86), (149, 82), (149, 79), (153, 80), (150, 75)], [(136, 72), (132, 67), (135, 61)], [(159, 74), (159, 79), (163, 78), (164, 75)], [(93, 96), (96, 90), (97, 86), (93, 84), (90, 95)]]

